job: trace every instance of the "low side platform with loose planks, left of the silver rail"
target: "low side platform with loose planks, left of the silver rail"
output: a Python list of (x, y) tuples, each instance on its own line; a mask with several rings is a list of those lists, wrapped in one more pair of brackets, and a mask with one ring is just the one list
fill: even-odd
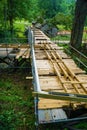
[(30, 47), (28, 44), (1, 44), (0, 57), (15, 57), (16, 59), (25, 58), (30, 56)]

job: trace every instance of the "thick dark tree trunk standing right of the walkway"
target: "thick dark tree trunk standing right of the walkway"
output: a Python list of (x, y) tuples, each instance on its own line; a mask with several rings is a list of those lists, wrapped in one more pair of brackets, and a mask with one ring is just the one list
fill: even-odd
[(77, 0), (75, 8), (75, 18), (71, 32), (70, 43), (79, 49), (82, 44), (83, 30), (87, 15), (87, 0)]

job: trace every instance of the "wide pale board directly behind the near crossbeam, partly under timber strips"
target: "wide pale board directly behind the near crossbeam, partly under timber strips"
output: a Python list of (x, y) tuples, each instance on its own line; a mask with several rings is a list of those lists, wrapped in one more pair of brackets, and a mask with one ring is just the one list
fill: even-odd
[[(61, 77), (64, 80), (64, 77)], [(65, 92), (60, 80), (57, 76), (40, 76), (39, 78), (40, 86), (42, 91), (49, 91), (49, 92)], [(78, 91), (81, 94), (84, 94), (84, 90), (81, 88), (80, 84), (74, 84)], [(65, 88), (67, 88), (67, 93), (75, 94), (77, 93), (75, 88), (71, 83), (65, 83)]]

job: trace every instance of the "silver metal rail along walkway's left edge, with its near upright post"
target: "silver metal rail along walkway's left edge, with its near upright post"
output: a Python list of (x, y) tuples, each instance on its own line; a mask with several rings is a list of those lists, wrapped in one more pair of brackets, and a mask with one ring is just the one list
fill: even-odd
[[(32, 75), (33, 75), (33, 86), (34, 86), (34, 91), (36, 92), (41, 92), (40, 89), (40, 84), (39, 84), (39, 77), (38, 77), (38, 71), (37, 71), (37, 66), (36, 66), (36, 59), (35, 59), (35, 52), (34, 52), (34, 36), (33, 36), (33, 31), (31, 29), (28, 29), (28, 43), (30, 44), (30, 55), (31, 55), (31, 66), (32, 66)], [(36, 130), (38, 130), (38, 95), (34, 97), (34, 104), (35, 104), (35, 118), (36, 118)]]

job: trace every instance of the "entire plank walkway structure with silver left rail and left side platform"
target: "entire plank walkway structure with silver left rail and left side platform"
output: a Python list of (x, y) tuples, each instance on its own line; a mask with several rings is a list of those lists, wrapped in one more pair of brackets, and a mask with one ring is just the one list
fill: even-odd
[(1, 64), (18, 68), (27, 59), (31, 61), (32, 77), (26, 79), (33, 83), (36, 129), (41, 124), (87, 120), (87, 73), (63, 47), (36, 28), (29, 29), (28, 44), (0, 45)]

